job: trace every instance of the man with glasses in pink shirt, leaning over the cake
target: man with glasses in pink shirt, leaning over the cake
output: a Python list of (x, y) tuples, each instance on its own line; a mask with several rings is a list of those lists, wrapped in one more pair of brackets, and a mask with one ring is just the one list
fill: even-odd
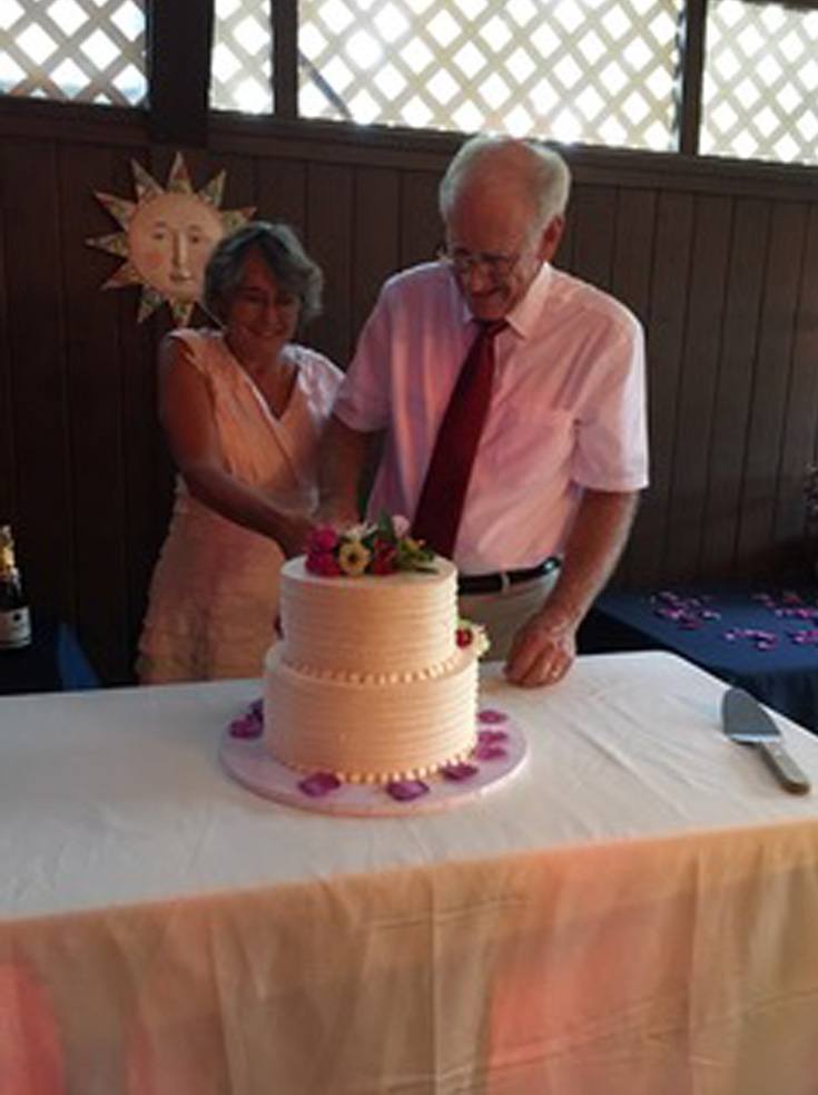
[[(425, 529), (435, 489), (427, 477), (452, 462), (436, 447), (466, 398), (457, 378), (475, 327), (491, 326), (489, 405), (451, 554), (461, 614), (486, 625), (490, 656), (506, 657), (507, 678), (528, 686), (569, 669), (579, 624), (647, 485), (639, 322), (550, 265), (569, 187), (561, 157), (534, 143), (475, 137), (461, 148), (440, 188), (442, 262), (382, 290), (335, 404), (322, 471), (324, 515), (354, 520), (381, 434), (369, 512), (404, 514)], [(433, 518), (446, 508), (438, 498)]]

